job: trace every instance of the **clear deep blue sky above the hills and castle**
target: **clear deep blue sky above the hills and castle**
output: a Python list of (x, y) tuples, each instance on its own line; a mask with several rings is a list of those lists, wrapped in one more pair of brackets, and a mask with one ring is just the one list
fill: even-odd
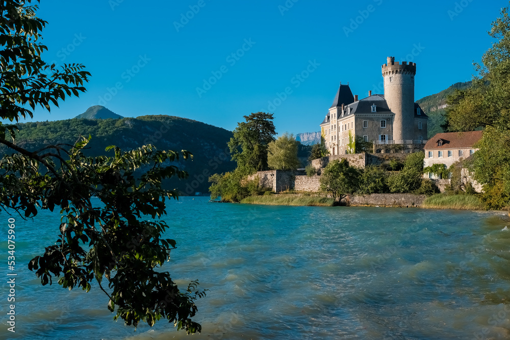
[[(149, 5), (150, 4), (150, 5)], [(82, 63), (87, 93), (34, 121), (103, 105), (233, 130), (274, 112), (279, 134), (312, 132), (340, 82), (381, 93), (386, 57), (417, 63), (416, 100), (465, 82), (507, 1), (41, 1), (47, 62)], [(287, 93), (286, 93), (287, 90)], [(272, 105), (271, 105), (272, 104)]]

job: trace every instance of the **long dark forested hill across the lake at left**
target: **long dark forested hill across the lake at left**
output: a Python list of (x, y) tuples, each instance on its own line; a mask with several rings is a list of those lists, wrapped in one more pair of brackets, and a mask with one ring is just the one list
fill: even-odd
[[(73, 144), (80, 135), (92, 136), (85, 154), (106, 154), (105, 148), (116, 145), (123, 150), (153, 144), (158, 149), (188, 150), (193, 161), (175, 165), (189, 173), (187, 180), (172, 179), (167, 188), (177, 188), (186, 194), (207, 193), (208, 177), (231, 171), (236, 164), (230, 159), (227, 142), (232, 132), (195, 120), (173, 116), (141, 116), (121, 119), (67, 119), (59, 121), (19, 123), (16, 144), (37, 150), (48, 144)], [(11, 153), (5, 146), (0, 152)], [(113, 152), (113, 151), (109, 151)]]

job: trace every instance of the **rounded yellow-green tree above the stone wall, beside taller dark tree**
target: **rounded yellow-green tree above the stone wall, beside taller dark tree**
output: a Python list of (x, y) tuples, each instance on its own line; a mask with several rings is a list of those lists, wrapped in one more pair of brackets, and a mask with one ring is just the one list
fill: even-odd
[(268, 145), (267, 165), (270, 169), (296, 170), (299, 167), (297, 148), (299, 142), (294, 135), (283, 134)]

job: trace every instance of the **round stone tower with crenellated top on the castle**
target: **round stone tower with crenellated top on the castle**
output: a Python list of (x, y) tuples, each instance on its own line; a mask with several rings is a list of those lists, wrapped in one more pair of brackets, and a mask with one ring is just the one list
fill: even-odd
[(384, 77), (384, 96), (390, 110), (395, 114), (393, 122), (393, 140), (404, 144), (414, 138), (414, 77), (416, 63), (395, 62), (388, 57), (388, 63), (382, 65)]

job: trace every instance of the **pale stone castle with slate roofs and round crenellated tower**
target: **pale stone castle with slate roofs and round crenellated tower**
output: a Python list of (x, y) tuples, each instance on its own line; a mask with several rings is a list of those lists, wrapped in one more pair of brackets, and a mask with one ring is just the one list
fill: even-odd
[(320, 124), (329, 153), (355, 153), (356, 138), (372, 143), (375, 152), (387, 145), (401, 145), (408, 152), (423, 149), (428, 117), (414, 100), (415, 75), (416, 63), (400, 64), (388, 57), (382, 65), (384, 94), (369, 91), (368, 97), (358, 100), (349, 85), (340, 84)]

